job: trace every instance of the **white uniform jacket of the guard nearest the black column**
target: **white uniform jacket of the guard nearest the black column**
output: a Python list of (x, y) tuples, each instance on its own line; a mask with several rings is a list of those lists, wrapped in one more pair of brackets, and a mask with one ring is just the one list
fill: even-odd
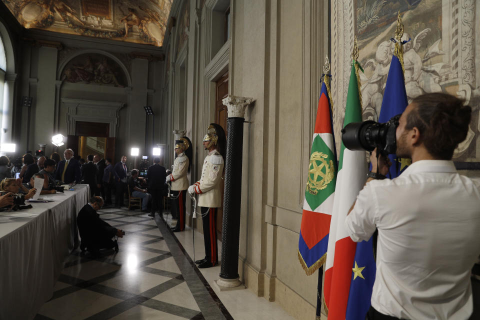
[(223, 157), (215, 149), (211, 150), (201, 168), (200, 180), (195, 182), (194, 190), (198, 194), (198, 206), (217, 208), (221, 206), (221, 176)]

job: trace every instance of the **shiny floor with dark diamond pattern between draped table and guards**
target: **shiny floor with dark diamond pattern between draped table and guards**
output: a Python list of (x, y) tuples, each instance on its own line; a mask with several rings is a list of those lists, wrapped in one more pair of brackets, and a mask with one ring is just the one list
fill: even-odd
[(125, 231), (119, 252), (72, 252), (35, 319), (233, 319), (158, 215), (98, 212)]

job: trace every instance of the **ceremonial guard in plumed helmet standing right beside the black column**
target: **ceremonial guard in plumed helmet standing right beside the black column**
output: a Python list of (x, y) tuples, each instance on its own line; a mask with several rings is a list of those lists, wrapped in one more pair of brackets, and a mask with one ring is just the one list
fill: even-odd
[(218, 263), (216, 244), (216, 212), (221, 206), (221, 179), (225, 159), (225, 132), (223, 128), (210, 123), (203, 137), (203, 147), (208, 154), (203, 161), (200, 180), (188, 187), (188, 193), (198, 194), (203, 224), (205, 258), (195, 261), (199, 268), (208, 268)]

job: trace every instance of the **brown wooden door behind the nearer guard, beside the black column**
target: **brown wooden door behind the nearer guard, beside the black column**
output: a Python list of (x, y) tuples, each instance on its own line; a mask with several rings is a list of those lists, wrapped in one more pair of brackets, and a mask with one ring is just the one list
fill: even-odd
[[(228, 134), (226, 127), (226, 118), (228, 117), (227, 108), (221, 101), (228, 95), (228, 72), (223, 74), (221, 78), (216, 81), (215, 90), (215, 123), (219, 124), (225, 130), (225, 137)], [(225, 145), (226, 147), (226, 145)], [(221, 226), (223, 221), (223, 180), (221, 180), (221, 206), (218, 208), (216, 215), (216, 230), (218, 237), (221, 238)]]

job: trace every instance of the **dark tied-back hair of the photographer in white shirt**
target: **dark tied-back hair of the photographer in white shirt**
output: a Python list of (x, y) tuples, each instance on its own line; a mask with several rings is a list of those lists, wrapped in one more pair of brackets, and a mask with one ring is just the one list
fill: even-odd
[(427, 93), (414, 98), (405, 129), (417, 127), (420, 141), (437, 159), (450, 160), (458, 143), (466, 138), (471, 107), (446, 93)]

